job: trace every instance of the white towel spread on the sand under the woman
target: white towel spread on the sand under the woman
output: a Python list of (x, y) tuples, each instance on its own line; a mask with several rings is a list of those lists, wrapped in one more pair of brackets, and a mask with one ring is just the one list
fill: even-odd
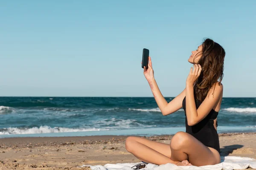
[[(122, 163), (122, 164), (105, 164), (102, 165), (82, 165), (80, 167), (89, 167), (91, 170), (132, 170), (136, 164), (143, 163)], [(146, 167), (141, 170), (244, 170), (247, 167), (256, 168), (256, 159), (239, 157), (239, 156), (221, 156), (221, 163), (206, 166), (177, 166), (175, 164), (167, 163), (160, 166), (156, 164), (146, 164)]]

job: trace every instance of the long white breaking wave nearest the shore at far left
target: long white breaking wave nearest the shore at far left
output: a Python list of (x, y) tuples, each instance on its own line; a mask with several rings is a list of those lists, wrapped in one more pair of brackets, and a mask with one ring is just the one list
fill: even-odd
[(34, 134), (34, 133), (61, 133), (61, 132), (84, 132), (84, 131), (101, 131), (109, 130), (104, 128), (67, 128), (67, 127), (49, 127), (40, 126), (32, 128), (8, 127), (0, 129), (0, 135), (11, 134)]

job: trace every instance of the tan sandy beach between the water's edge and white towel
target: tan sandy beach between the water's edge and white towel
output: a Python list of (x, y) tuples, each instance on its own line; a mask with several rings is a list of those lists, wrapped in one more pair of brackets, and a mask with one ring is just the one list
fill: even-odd
[[(89, 170), (89, 167), (77, 166), (140, 162), (125, 150), (126, 137), (78, 136), (0, 139), (0, 170)], [(162, 135), (146, 138), (169, 144), (172, 136)], [(256, 159), (256, 142), (254, 142), (256, 133), (221, 133), (219, 139), (221, 156), (243, 156)]]

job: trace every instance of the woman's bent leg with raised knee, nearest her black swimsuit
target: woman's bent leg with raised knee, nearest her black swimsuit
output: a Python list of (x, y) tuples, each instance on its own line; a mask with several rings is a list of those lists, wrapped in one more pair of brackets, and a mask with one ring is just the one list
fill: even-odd
[(170, 147), (171, 159), (174, 161), (188, 159), (189, 163), (195, 166), (204, 166), (218, 164), (221, 160), (217, 150), (205, 146), (189, 133), (176, 133), (172, 137)]

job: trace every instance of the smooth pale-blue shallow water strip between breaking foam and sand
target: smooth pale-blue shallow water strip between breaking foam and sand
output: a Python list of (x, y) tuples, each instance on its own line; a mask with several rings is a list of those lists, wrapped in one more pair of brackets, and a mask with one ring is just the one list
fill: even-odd
[[(41, 127), (40, 127), (41, 128)], [(44, 127), (43, 127), (44, 128)], [(47, 127), (48, 128), (48, 127)], [(37, 129), (37, 128), (36, 128)], [(47, 132), (47, 133), (25, 133), (25, 134), (1, 134), (3, 138), (23, 138), (23, 137), (77, 137), (77, 136), (153, 136), (153, 135), (174, 135), (179, 131), (186, 131), (186, 127), (146, 127), (131, 129), (106, 129), (92, 131), (70, 131), (70, 132)], [(256, 132), (255, 126), (218, 126), (218, 134), (221, 133), (250, 133)], [(12, 133), (12, 132), (10, 132)], [(15, 133), (15, 132), (14, 132)]]

